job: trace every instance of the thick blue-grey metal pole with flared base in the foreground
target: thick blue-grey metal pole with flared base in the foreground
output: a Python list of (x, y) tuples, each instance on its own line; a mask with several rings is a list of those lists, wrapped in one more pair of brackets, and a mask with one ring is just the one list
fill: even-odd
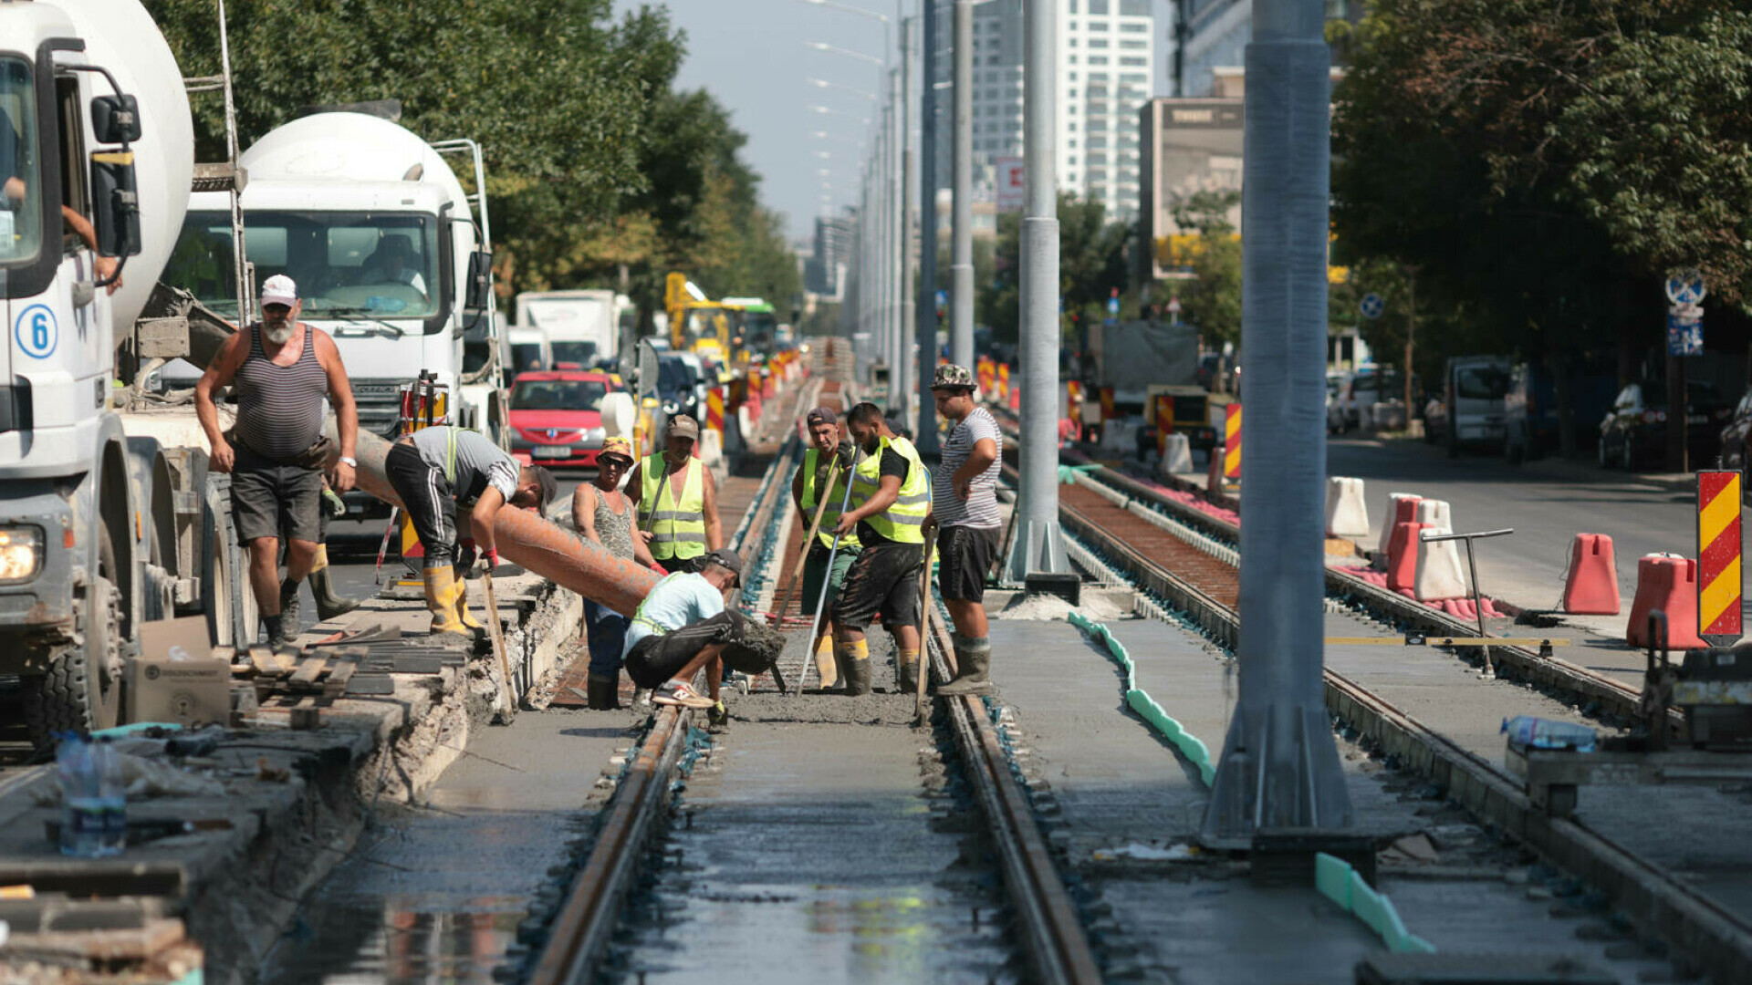
[[(1330, 53), (1321, 0), (1256, 0), (1242, 161), (1240, 701), (1202, 838), (1354, 824), (1321, 692)], [(1263, 426), (1260, 426), (1263, 422)]]

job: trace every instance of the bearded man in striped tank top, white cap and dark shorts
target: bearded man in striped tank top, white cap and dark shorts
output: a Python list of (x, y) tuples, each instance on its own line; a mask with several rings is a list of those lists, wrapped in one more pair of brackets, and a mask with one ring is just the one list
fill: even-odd
[[(249, 545), (249, 587), (256, 592), (270, 647), (298, 636), (298, 585), (317, 556), (322, 500), (322, 400), (335, 407), (340, 461), (329, 477), (336, 492), (352, 489), (359, 417), (340, 349), (326, 331), (298, 321), (291, 277), (261, 284), (261, 321), (231, 335), (194, 386), (194, 414), (212, 447), (212, 466), (231, 473), (231, 514), (238, 542)], [(237, 424), (219, 429), (214, 394), (231, 386)], [(280, 580), (280, 531), (286, 580)]]

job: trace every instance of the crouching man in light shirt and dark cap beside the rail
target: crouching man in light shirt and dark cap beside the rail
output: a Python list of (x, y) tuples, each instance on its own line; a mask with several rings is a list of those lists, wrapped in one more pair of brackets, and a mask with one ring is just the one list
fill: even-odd
[[(627, 627), (624, 666), (638, 687), (655, 689), (657, 705), (711, 708), (713, 724), (724, 719), (718, 684), (724, 677), (724, 647), (741, 640), (745, 617), (724, 608), (724, 596), (741, 580), (743, 559), (734, 550), (701, 556), (699, 573), (676, 571), (652, 587)], [(694, 675), (706, 670), (710, 698), (694, 691)]]

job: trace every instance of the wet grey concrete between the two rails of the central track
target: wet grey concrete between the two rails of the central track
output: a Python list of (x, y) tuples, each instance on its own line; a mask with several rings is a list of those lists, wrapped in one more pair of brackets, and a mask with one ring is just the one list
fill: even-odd
[[(878, 687), (890, 675), (878, 670)], [(1002, 894), (904, 694), (752, 694), (629, 906), (622, 981), (1013, 981)], [(858, 727), (846, 727), (846, 726)]]

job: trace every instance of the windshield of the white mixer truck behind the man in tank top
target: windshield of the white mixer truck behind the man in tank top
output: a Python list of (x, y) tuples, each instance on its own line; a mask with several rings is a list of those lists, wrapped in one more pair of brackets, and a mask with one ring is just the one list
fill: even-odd
[[(286, 273), (303, 317), (427, 319), (438, 314), (438, 223), (410, 212), (259, 212), (244, 217), (256, 279)], [(237, 317), (231, 217), (189, 212), (165, 284)], [(442, 331), (440, 326), (436, 331)]]

